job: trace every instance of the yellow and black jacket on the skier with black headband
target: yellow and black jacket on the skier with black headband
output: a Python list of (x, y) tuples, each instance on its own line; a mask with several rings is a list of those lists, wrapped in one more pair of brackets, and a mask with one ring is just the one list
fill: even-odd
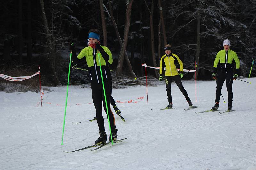
[(160, 76), (162, 76), (165, 67), (165, 76), (179, 75), (177, 67), (180, 65), (180, 71), (183, 71), (183, 63), (176, 54), (164, 55), (160, 60)]

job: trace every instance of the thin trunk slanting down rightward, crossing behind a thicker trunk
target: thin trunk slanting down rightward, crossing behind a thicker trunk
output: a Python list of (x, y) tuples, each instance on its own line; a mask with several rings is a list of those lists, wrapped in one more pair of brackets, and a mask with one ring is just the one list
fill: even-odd
[[(113, 10), (112, 10), (112, 6), (111, 6), (110, 0), (108, 0), (108, 4), (109, 4), (109, 11), (110, 11), (110, 13), (108, 12), (108, 9), (106, 8), (106, 6), (104, 4), (103, 4), (103, 6), (104, 6), (105, 10), (107, 11), (108, 16), (111, 18), (112, 24), (113, 24), (115, 32), (116, 32), (116, 37), (118, 39), (118, 42), (119, 42), (120, 46), (122, 46), (123, 42), (122, 42), (121, 36), (119, 34), (118, 28), (117, 28), (117, 24), (116, 24), (114, 15), (113, 15)], [(127, 54), (126, 50), (125, 50), (125, 60), (127, 62), (129, 71), (132, 73), (132, 75), (134, 77), (137, 77), (136, 74), (132, 70), (132, 66), (131, 66), (131, 63), (130, 63), (130, 60), (129, 60), (129, 57), (128, 57), (128, 54)]]

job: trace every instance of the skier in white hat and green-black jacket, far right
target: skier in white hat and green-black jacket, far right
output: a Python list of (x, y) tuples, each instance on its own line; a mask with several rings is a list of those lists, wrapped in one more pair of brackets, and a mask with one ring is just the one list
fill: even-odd
[[(215, 105), (212, 107), (212, 110), (217, 110), (220, 103), (220, 91), (222, 89), (223, 83), (226, 80), (226, 86), (228, 91), (228, 110), (232, 110), (233, 105), (233, 92), (232, 84), (233, 80), (236, 80), (238, 77), (238, 72), (240, 68), (240, 61), (237, 57), (236, 52), (230, 50), (230, 41), (228, 39), (223, 41), (224, 50), (220, 50), (213, 64), (213, 79), (216, 80), (216, 94), (215, 94)], [(235, 71), (233, 73), (233, 60), (236, 63)], [(217, 65), (220, 64), (220, 68), (217, 69)]]

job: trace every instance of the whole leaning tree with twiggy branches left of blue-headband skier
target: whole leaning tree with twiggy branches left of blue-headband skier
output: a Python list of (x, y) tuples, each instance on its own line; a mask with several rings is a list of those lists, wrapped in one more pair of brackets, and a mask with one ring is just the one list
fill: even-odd
[[(76, 18), (67, 15), (67, 11), (70, 10), (68, 8), (68, 1), (65, 3), (61, 0), (50, 0), (49, 4), (47, 4), (47, 9), (49, 11), (48, 20), (46, 16), (46, 11), (44, 7), (44, 1), (40, 0), (43, 23), (42, 23), (42, 32), (41, 34), (45, 36), (46, 44), (42, 45), (45, 47), (44, 55), (47, 56), (48, 61), (50, 63), (51, 73), (53, 75), (54, 85), (59, 84), (59, 78), (56, 75), (58, 70), (58, 65), (56, 64), (56, 53), (58, 53), (62, 48), (64, 48), (68, 42), (68, 39), (71, 39), (71, 36), (68, 35), (67, 28), (69, 25), (79, 23)], [(66, 12), (64, 12), (66, 11)], [(71, 11), (69, 11), (71, 12)], [(71, 22), (67, 22), (71, 19)]]

